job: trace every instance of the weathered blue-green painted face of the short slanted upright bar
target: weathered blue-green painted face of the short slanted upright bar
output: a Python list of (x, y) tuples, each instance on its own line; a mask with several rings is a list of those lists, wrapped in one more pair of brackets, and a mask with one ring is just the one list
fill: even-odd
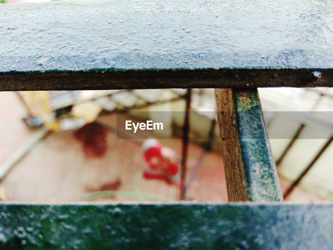
[(233, 90), (236, 127), (250, 201), (282, 201), (258, 91)]

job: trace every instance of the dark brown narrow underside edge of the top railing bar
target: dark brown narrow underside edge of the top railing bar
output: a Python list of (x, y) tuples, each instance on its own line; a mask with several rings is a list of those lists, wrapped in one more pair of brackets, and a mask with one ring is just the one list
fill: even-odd
[[(314, 72), (321, 72), (320, 77)], [(317, 74), (316, 74), (317, 75)], [(193, 69), (0, 72), (0, 91), (333, 87), (333, 70)]]

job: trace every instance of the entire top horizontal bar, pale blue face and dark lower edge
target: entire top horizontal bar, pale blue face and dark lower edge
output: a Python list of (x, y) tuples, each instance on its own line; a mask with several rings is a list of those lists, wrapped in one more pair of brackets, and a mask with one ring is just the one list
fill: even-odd
[(0, 90), (332, 86), (325, 1), (55, 1), (0, 12)]

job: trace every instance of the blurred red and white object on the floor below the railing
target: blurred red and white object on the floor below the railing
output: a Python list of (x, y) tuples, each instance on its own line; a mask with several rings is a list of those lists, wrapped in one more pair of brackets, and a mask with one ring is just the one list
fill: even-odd
[(142, 147), (146, 163), (143, 177), (179, 186), (180, 171), (176, 153), (156, 139), (147, 139)]

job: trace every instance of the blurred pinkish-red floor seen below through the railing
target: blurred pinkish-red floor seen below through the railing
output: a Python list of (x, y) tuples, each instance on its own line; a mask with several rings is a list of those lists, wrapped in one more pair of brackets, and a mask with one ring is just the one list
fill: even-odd
[[(15, 93), (0, 92), (0, 167), (35, 132), (21, 121), (24, 114), (24, 107)], [(99, 120), (113, 126), (116, 121), (115, 115), (104, 116)], [(8, 193), (9, 200), (76, 202), (82, 201), (83, 194), (101, 189), (133, 191), (133, 178), (142, 169), (140, 146), (125, 139), (117, 139), (115, 133), (108, 131), (105, 155), (101, 158), (90, 157), (84, 153), (81, 142), (74, 134), (73, 131), (51, 133), (12, 169), (0, 183)], [(160, 142), (180, 154), (180, 139), (164, 139)], [(189, 145), (187, 177), (201, 152), (201, 147), (192, 143)], [(283, 190), (287, 185), (285, 180), (281, 180)], [(160, 181), (141, 179), (140, 190), (167, 198), (170, 188)], [(219, 152), (206, 155), (187, 196), (199, 201), (227, 201)], [(129, 200), (126, 195), (112, 199)], [(321, 199), (296, 188), (288, 200)]]

